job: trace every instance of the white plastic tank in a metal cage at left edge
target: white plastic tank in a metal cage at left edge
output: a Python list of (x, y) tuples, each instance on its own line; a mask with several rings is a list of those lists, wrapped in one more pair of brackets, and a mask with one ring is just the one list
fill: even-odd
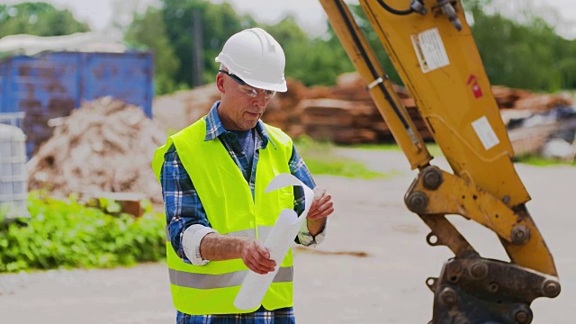
[(25, 142), (22, 130), (0, 123), (0, 214), (7, 219), (30, 216)]

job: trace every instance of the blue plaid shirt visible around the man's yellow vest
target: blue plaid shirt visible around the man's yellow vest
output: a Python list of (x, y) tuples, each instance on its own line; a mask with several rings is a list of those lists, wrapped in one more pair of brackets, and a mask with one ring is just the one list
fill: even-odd
[[(256, 182), (256, 167), (259, 157), (259, 149), (266, 148), (267, 145), (275, 145), (268, 136), (266, 128), (262, 121), (258, 121), (256, 125), (255, 144), (256, 149), (254, 152), (254, 160), (251, 169), (246, 154), (241, 148), (238, 137), (236, 134), (225, 130), (218, 116), (218, 105), (220, 102), (214, 103), (211, 111), (206, 117), (206, 137), (204, 140), (220, 139), (224, 147), (228, 150), (230, 157), (234, 160), (238, 168), (242, 171), (245, 179), (247, 180), (252, 197), (254, 197), (254, 184)], [(293, 147), (293, 155), (289, 161), (290, 172), (302, 181), (302, 183), (314, 188), (314, 180), (308, 167), (304, 164), (302, 157), (298, 155), (296, 148)], [(181, 257), (184, 262), (190, 263), (190, 260), (184, 254), (184, 247), (182, 246), (182, 238), (184, 230), (194, 224), (199, 224), (205, 227), (211, 227), (206, 211), (202, 207), (202, 202), (198, 193), (195, 191), (192, 180), (187, 174), (184, 166), (174, 145), (168, 148), (164, 156), (164, 166), (160, 174), (160, 182), (162, 184), (162, 193), (164, 203), (166, 206), (166, 224), (170, 233), (170, 241), (174, 247), (176, 254)], [(294, 187), (294, 211), (302, 212), (304, 208), (304, 193), (301, 187)], [(304, 246), (313, 247), (317, 241), (324, 236), (322, 231), (316, 238), (311, 236), (311, 233), (304, 226), (302, 227), (297, 243)], [(276, 311), (266, 311), (261, 308), (260, 310), (247, 314), (231, 314), (231, 315), (207, 315), (207, 316), (190, 316), (178, 312), (178, 324), (193, 324), (193, 323), (245, 323), (248, 319), (250, 323), (264, 324), (264, 323), (292, 323), (293, 322), (293, 309), (282, 309)], [(244, 319), (244, 320), (238, 320)], [(276, 319), (276, 321), (274, 321)], [(284, 319), (284, 320), (280, 320)]]

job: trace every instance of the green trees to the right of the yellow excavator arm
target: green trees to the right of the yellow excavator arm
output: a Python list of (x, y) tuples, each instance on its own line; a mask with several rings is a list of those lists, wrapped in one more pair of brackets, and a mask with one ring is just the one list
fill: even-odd
[(554, 92), (576, 84), (576, 43), (564, 40), (554, 28), (533, 13), (527, 23), (502, 14), (486, 14), (491, 1), (468, 0), (471, 29), (486, 73), (495, 85)]

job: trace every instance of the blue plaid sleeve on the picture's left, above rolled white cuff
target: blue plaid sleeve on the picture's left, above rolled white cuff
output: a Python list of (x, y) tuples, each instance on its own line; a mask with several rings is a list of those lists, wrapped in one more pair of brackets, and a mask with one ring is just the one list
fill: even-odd
[(184, 230), (193, 224), (211, 227), (206, 211), (192, 179), (184, 169), (174, 145), (164, 155), (164, 166), (160, 174), (162, 195), (166, 208), (166, 224), (170, 234), (170, 243), (178, 257), (191, 263), (184, 254), (182, 237)]

